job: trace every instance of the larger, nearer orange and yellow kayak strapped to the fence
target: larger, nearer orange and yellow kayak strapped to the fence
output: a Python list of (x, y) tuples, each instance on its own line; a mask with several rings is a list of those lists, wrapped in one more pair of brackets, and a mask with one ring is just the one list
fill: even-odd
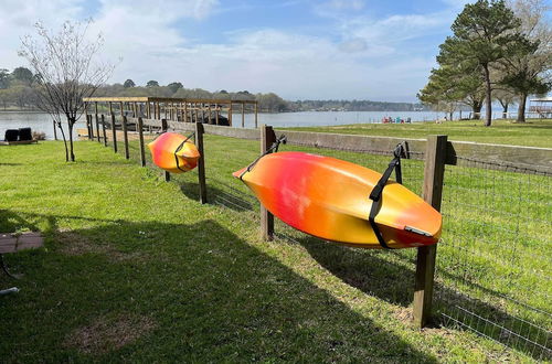
[[(234, 176), (286, 224), (316, 237), (357, 247), (381, 248), (369, 222), (369, 195), (381, 173), (339, 159), (302, 152), (261, 158)], [(440, 213), (402, 184), (389, 181), (375, 216), (391, 248), (437, 243)]]

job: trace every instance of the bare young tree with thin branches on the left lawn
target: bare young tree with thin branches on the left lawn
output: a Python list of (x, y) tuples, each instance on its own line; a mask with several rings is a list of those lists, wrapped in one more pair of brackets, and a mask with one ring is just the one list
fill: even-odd
[[(94, 95), (115, 67), (97, 60), (104, 39), (98, 34), (95, 41), (87, 40), (91, 23), (92, 20), (84, 23), (66, 21), (57, 33), (52, 33), (38, 22), (38, 36), (22, 38), (19, 52), (39, 75), (38, 106), (50, 114), (62, 130), (67, 161), (75, 161), (73, 127), (84, 113), (83, 97)], [(68, 150), (62, 118), (67, 121)]]

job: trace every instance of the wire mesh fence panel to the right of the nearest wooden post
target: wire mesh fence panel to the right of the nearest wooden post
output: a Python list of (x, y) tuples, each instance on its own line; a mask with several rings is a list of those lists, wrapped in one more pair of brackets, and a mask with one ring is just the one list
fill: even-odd
[(551, 176), (461, 157), (447, 165), (436, 274), (444, 324), (541, 361), (552, 354)]

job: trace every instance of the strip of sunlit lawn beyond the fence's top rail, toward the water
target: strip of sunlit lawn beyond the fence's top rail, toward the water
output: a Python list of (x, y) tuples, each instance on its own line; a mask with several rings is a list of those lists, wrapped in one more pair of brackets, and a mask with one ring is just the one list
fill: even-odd
[(427, 135), (447, 135), (448, 140), (552, 148), (552, 119), (529, 119), (526, 124), (516, 124), (511, 120), (492, 120), (491, 127), (485, 127), (481, 120), (467, 120), (446, 121), (444, 124), (355, 124), (295, 129), (399, 138), (426, 138)]

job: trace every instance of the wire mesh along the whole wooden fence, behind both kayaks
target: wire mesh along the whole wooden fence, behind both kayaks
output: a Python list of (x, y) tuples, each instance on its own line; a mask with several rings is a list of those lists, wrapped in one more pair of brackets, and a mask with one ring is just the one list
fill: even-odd
[[(108, 129), (108, 147), (113, 148), (110, 135)], [(146, 141), (155, 137), (145, 135)], [(123, 140), (117, 142), (118, 152), (124, 154)], [(232, 172), (258, 157), (258, 141), (205, 135), (204, 149), (210, 203), (238, 213), (252, 225), (258, 224), (257, 199), (232, 176)], [(380, 172), (392, 158), (390, 150), (280, 146), (280, 151), (286, 150), (316, 152)], [(229, 153), (232, 158), (225, 158)], [(139, 162), (138, 140), (130, 139), (129, 154), (130, 160)], [(402, 160), (403, 184), (421, 195), (424, 153), (411, 152), (411, 158)], [(148, 167), (157, 170), (148, 151), (146, 160)], [(550, 178), (528, 168), (505, 168), (461, 157), (457, 158), (457, 165), (447, 165), (442, 203), (444, 235), (437, 253), (435, 287), (435, 308), (442, 324), (475, 332), (542, 361), (551, 360)], [(198, 199), (197, 171), (171, 174), (171, 181), (190, 199)], [(307, 248), (316, 246), (309, 251), (322, 264), (338, 265), (336, 271), (343, 274), (347, 282), (393, 303), (412, 303), (416, 249), (383, 251), (335, 246), (277, 218), (275, 240)], [(325, 261), (328, 258), (317, 253), (323, 249), (342, 263)], [(385, 269), (378, 272), (370, 268), (374, 265)], [(380, 283), (374, 283), (379, 281), (374, 275), (381, 275)]]

